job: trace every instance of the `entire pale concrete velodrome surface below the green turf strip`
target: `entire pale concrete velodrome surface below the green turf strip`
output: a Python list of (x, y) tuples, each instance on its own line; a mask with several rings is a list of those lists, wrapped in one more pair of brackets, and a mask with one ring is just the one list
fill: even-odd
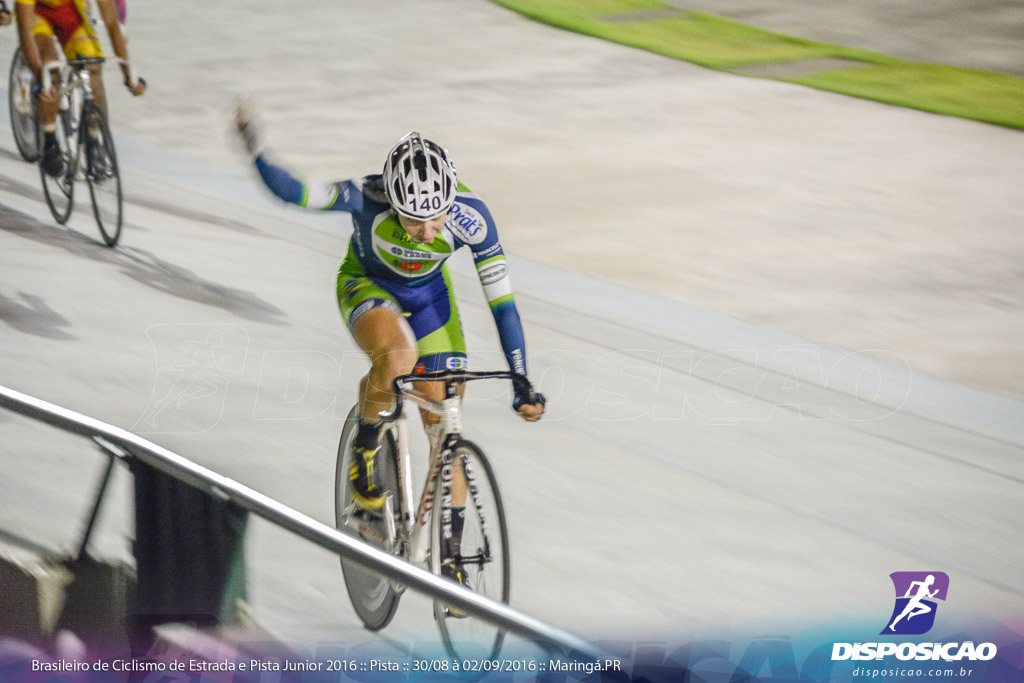
[[(493, 456), (506, 496), (514, 606), (586, 638), (786, 632), (881, 622), (890, 572), (936, 569), (955, 590), (943, 618), (1019, 611), (1024, 407), (920, 370), (996, 388), (1020, 377), (1012, 353), (971, 345), (1020, 325), (1008, 322), (1019, 292), (999, 290), (992, 273), (1018, 253), (1019, 238), (989, 253), (988, 272), (963, 264), (984, 296), (1007, 299), (992, 314), (971, 301), (961, 312), (963, 302), (929, 288), (930, 278), (949, 276), (948, 260), (904, 281), (888, 270), (858, 280), (855, 264), (824, 272), (837, 252), (862, 263), (882, 247), (900, 256), (928, 230), (955, 238), (953, 223), (968, 218), (992, 236), (978, 242), (1013, 240), (1019, 133), (712, 74), (486, 3), (453, 0), (429, 14), (413, 3), (348, 5), (337, 22), (293, 26), (267, 2), (269, 13), (257, 19), (254, 10), (231, 49), (209, 28), (227, 25), (230, 3), (196, 4), (139, 8), (130, 19), (152, 91), (128, 101), (111, 88), (127, 191), (119, 249), (97, 244), (85, 205), (70, 228), (56, 226), (36, 169), (0, 131), (0, 383), (132, 429), (330, 521), (335, 444), (365, 370), (333, 293), (348, 230), (343, 217), (267, 199), (224, 132), (233, 95), (254, 93), (282, 158), (334, 177), (376, 169), (392, 138), (420, 127), (451, 140), (471, 184), (479, 177), (474, 188), (494, 198), (531, 375), (550, 398), (538, 425), (516, 420), (499, 389), (477, 390), (467, 404), (470, 435)], [(463, 31), (440, 46), (385, 50), (373, 33), (386, 25), (440, 35), (445, 12), (459, 13)], [(181, 50), (161, 59), (170, 38), (159, 27), (172, 19)], [(284, 53), (257, 49), (260, 41)], [(342, 54), (323, 54), (328, 44)], [(395, 71), (399, 63), (413, 67)], [(404, 110), (393, 106), (396, 90)], [(726, 138), (749, 156), (723, 163)], [(688, 156), (667, 157), (675, 139)], [(865, 144), (900, 154), (873, 165)], [(939, 144), (945, 152), (928, 163), (907, 161)], [(987, 163), (968, 154), (978, 150)], [(600, 172), (609, 157), (618, 170), (610, 180)], [(879, 194), (911, 170), (900, 193)], [(969, 201), (933, 206), (936, 193), (962, 185)], [(740, 190), (743, 208), (719, 213)], [(624, 226), (623, 197), (660, 199), (637, 200)], [(850, 237), (866, 197), (874, 231)], [(722, 285), (733, 305), (699, 294), (727, 280), (720, 263), (694, 267), (689, 285), (687, 272), (668, 269), (673, 249), (684, 263), (695, 258), (687, 249), (714, 253), (707, 230), (694, 227), (686, 244), (670, 224), (681, 219), (723, 219), (723, 238), (746, 241), (742, 270)], [(886, 243), (885, 227), (901, 220), (913, 234)], [(819, 222), (841, 234), (807, 234)], [(768, 232), (751, 231), (755, 223)], [(655, 256), (635, 242), (648, 225), (664, 238)], [(788, 289), (758, 286), (759, 273), (780, 268)], [(475, 275), (464, 258), (454, 269), (471, 359), (498, 366)], [(644, 272), (651, 282), (637, 285)], [(658, 287), (679, 298), (650, 293)], [(679, 300), (687, 288), (701, 306)], [(913, 311), (916, 337), (886, 316), (887, 297)], [(851, 310), (861, 324), (846, 319)], [(967, 339), (918, 343), (957, 325), (970, 328)], [(851, 353), (859, 349), (874, 350)], [(982, 356), (1007, 365), (971, 368)], [(957, 357), (966, 369), (949, 360)], [(5, 414), (0, 433), (4, 538), (67, 547), (99, 456)], [(102, 552), (125, 556), (126, 483), (98, 540)], [(254, 523), (249, 557), (255, 615), (278, 635), (307, 645), (374, 640), (332, 556)], [(383, 636), (385, 647), (433, 639), (427, 603), (408, 596)]]

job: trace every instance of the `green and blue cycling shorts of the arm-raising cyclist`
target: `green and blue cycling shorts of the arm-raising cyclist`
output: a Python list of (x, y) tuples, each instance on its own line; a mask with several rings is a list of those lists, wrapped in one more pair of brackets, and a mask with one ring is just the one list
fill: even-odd
[(368, 278), (350, 250), (338, 270), (338, 305), (349, 330), (360, 315), (374, 308), (384, 307), (404, 315), (420, 353), (416, 373), (468, 367), (466, 338), (447, 264), (441, 266), (439, 278), (407, 287)]

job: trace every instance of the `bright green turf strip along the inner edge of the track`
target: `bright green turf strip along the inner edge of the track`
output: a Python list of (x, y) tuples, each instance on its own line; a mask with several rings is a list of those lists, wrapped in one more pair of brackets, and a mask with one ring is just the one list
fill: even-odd
[[(530, 18), (676, 59), (731, 73), (758, 65), (837, 58), (852, 68), (774, 80), (889, 104), (1024, 128), (1024, 78), (898, 59), (764, 31), (657, 0), (494, 0)], [(621, 20), (620, 14), (664, 10), (665, 18)], [(642, 17), (642, 14), (637, 14)], [(602, 18), (603, 17), (603, 18)]]

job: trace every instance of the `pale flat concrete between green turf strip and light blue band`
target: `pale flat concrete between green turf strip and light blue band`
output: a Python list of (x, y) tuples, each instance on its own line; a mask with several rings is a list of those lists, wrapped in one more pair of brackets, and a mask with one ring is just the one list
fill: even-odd
[(212, 27), (237, 26), (231, 3), (140, 6), (153, 87), (117, 89), (116, 124), (237, 173), (225, 132), (250, 95), (278, 159), (326, 178), (376, 170), (418, 128), (512, 254), (1024, 397), (1020, 133), (726, 78), (478, 0), (311, 11), (259, 2), (228, 37)]

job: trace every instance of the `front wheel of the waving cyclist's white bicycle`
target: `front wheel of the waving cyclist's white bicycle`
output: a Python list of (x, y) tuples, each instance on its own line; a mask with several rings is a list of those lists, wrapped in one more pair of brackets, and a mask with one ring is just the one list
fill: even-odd
[[(455, 552), (442, 540), (444, 476), (437, 478), (438, 508), (430, 521), (430, 568), (440, 575), (441, 565), (455, 561), (465, 572), (465, 586), (497, 602), (509, 601), (511, 566), (505, 508), (495, 472), (483, 452), (472, 441), (460, 440), (452, 450), (453, 468), (461, 465), (466, 476), (466, 515), (462, 542)], [(452, 556), (454, 554), (454, 557)], [(465, 616), (442, 600), (434, 601), (434, 618), (441, 640), (456, 659), (494, 658), (505, 632), (473, 616)]]

